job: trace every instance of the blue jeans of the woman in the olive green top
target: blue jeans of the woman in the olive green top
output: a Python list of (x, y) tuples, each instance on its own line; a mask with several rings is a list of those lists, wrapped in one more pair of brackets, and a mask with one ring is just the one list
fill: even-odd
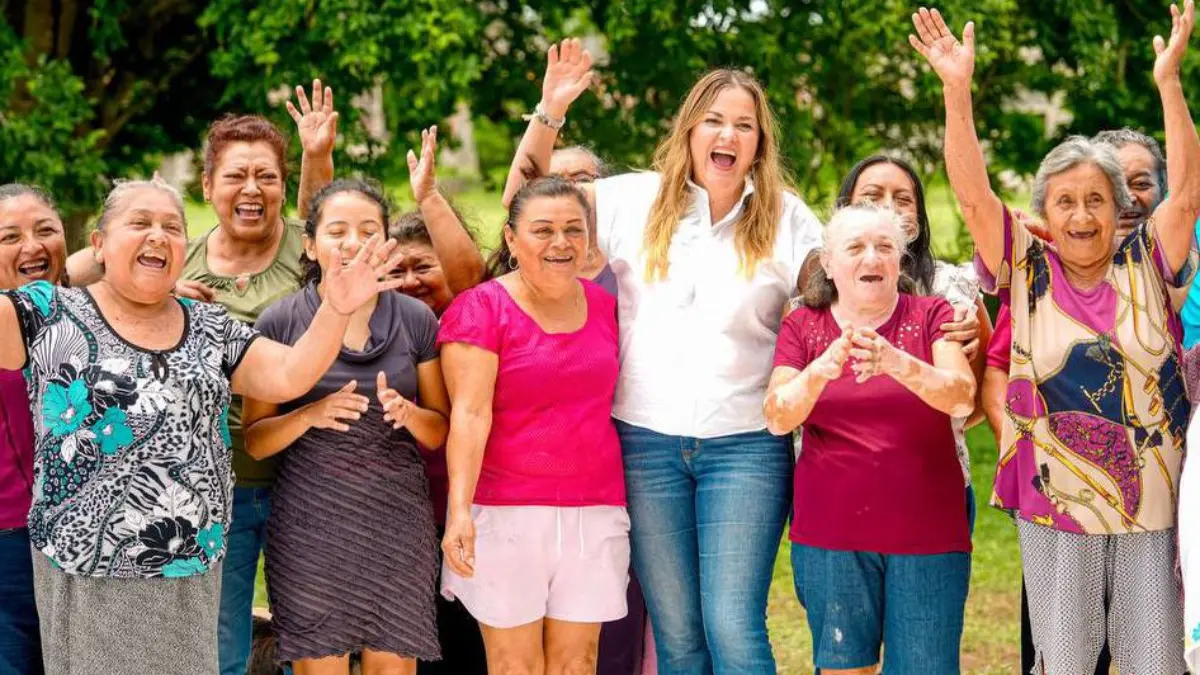
[(217, 652), (221, 675), (246, 675), (254, 607), (254, 577), (266, 544), (266, 518), (271, 514), (270, 488), (234, 488), (233, 521), (227, 536), (221, 573), (221, 616)]

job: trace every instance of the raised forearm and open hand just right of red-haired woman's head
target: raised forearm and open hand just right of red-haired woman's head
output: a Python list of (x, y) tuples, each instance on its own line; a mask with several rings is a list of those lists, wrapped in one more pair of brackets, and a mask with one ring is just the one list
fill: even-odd
[(337, 141), (337, 113), (334, 110), (334, 90), (322, 89), (320, 80), (312, 80), (312, 104), (304, 86), (296, 86), (298, 110), (288, 101), (288, 114), (300, 132), (300, 189), (296, 192), (296, 214), (308, 217), (308, 204), (322, 187), (334, 180), (334, 142)]

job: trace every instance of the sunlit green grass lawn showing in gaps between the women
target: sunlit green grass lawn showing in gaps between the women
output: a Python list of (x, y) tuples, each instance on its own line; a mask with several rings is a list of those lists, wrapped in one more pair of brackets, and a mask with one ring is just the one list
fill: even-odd
[[(407, 185), (392, 190), (401, 210), (412, 208)], [(452, 197), (470, 227), (486, 247), (494, 246), (504, 210), (499, 196), (481, 190)], [(935, 186), (929, 192), (930, 220), (934, 225), (935, 251), (958, 251), (959, 220), (949, 191)], [(187, 205), (188, 229), (198, 235), (211, 228), (216, 220), (205, 204)], [(964, 673), (998, 675), (1013, 673), (1020, 653), (1020, 557), (1016, 531), (1008, 516), (988, 507), (991, 480), (996, 467), (996, 446), (986, 425), (979, 425), (967, 436), (971, 447), (972, 477), (979, 504), (974, 531), (971, 596), (966, 609), (966, 629), (962, 637)], [(259, 574), (254, 602), (266, 604), (266, 591)], [(770, 639), (782, 674), (811, 673), (811, 639), (804, 610), (792, 587), (792, 566), (788, 544), (782, 542), (775, 560), (774, 583), (768, 607)]]

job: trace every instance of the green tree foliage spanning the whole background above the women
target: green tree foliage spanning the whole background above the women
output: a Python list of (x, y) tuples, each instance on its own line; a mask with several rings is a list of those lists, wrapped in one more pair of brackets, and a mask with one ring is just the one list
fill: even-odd
[[(0, 6), (0, 180), (46, 185), (77, 223), (106, 179), (145, 174), (162, 154), (197, 148), (222, 113), (264, 113), (290, 129), (282, 98), (313, 77), (337, 91), (340, 171), (402, 173), (415, 132), (467, 102), (481, 120), (485, 180), (496, 180), (523, 127), (520, 113), (539, 96), (548, 41), (568, 35), (593, 38), (601, 59), (600, 82), (571, 110), (565, 141), (586, 142), (618, 165), (648, 166), (697, 76), (734, 66), (767, 86), (810, 199), (826, 201), (874, 151), (905, 153), (930, 175), (941, 166), (940, 88), (907, 43), (916, 5), (901, 0)], [(938, 6), (955, 31), (977, 24), (977, 123), (992, 171), (1030, 174), (1068, 132), (1162, 127), (1150, 40), (1170, 28), (1166, 2)], [(350, 101), (372, 91), (383, 95), (386, 129), (368, 133)], [(1021, 103), (1051, 96), (1062, 97), (1073, 121), (1048, 133), (1044, 114)]]

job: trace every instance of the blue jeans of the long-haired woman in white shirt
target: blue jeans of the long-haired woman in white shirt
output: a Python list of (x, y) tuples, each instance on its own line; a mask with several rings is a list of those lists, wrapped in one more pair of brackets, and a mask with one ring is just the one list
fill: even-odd
[(792, 501), (791, 438), (617, 431), (659, 670), (774, 674), (767, 592)]

